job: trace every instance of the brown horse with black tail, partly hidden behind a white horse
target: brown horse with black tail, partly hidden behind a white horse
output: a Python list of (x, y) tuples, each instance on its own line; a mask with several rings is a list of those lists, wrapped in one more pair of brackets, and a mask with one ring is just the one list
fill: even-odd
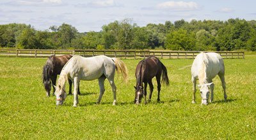
[[(61, 55), (54, 56), (51, 55), (47, 61), (45, 66), (43, 67), (42, 79), (44, 83), (44, 88), (46, 91), (47, 97), (50, 96), (51, 93), (51, 83), (53, 88), (53, 93), (55, 92), (55, 85), (57, 80), (57, 75), (60, 74), (62, 68), (71, 59), (72, 55)], [(72, 94), (72, 81), (68, 80), (69, 83), (69, 92), (68, 94)], [(78, 88), (78, 93), (80, 94), (80, 90)]]

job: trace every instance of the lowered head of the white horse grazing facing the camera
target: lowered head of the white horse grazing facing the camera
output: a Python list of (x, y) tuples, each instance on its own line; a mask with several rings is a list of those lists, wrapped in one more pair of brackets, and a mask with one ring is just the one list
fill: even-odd
[(202, 85), (198, 85), (198, 87), (200, 88), (200, 94), (202, 97), (202, 104), (204, 104), (204, 105), (208, 104), (208, 99), (209, 99), (209, 94), (210, 94), (209, 86), (212, 84), (213, 83), (204, 83)]

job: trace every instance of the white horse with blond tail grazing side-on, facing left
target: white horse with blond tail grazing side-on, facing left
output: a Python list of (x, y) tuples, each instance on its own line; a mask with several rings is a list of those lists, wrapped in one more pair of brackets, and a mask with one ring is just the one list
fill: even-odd
[(106, 57), (104, 55), (99, 55), (96, 57), (81, 57), (75, 55), (67, 64), (63, 67), (60, 78), (56, 86), (56, 105), (63, 104), (67, 94), (65, 92), (65, 83), (68, 79), (72, 80), (74, 83), (74, 104), (76, 107), (78, 104), (77, 89), (80, 80), (91, 81), (98, 79), (100, 87), (100, 95), (97, 104), (100, 103), (102, 95), (104, 94), (104, 81), (108, 79), (112, 91), (113, 91), (113, 105), (116, 104), (116, 85), (114, 82), (115, 70), (118, 73), (122, 73), (125, 81), (127, 81), (127, 67), (124, 62), (116, 58)]

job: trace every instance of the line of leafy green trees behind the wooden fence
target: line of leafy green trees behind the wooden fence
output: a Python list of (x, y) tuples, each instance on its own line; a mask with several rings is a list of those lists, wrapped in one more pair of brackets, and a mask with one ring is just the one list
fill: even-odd
[(0, 25), (1, 48), (29, 49), (161, 49), (256, 50), (256, 20), (177, 20), (139, 27), (125, 18), (102, 26), (100, 32), (78, 32), (63, 23), (45, 31), (31, 25)]

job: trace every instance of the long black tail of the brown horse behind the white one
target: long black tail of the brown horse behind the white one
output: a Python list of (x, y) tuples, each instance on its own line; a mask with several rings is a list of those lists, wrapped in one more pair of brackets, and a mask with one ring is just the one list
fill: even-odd
[(43, 73), (42, 73), (42, 80), (43, 80), (44, 88), (46, 91), (51, 90), (51, 79), (50, 78), (53, 73), (53, 64), (52, 64), (51, 57), (49, 57), (45, 66), (43, 67)]

